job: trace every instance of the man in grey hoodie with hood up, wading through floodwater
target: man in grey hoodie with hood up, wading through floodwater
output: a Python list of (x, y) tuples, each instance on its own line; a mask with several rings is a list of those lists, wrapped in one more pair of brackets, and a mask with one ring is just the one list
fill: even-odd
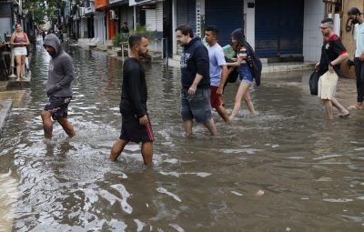
[(75, 79), (72, 57), (63, 50), (61, 42), (54, 34), (46, 35), (43, 42), (46, 52), (52, 56), (48, 67), (46, 96), (49, 102), (41, 112), (45, 141), (52, 138), (52, 118), (63, 127), (70, 137), (75, 136), (74, 127), (67, 120), (68, 104), (72, 99), (72, 81)]

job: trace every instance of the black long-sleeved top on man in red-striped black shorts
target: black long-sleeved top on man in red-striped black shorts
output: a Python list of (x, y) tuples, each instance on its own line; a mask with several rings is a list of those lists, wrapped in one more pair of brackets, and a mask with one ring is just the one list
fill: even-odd
[(136, 58), (128, 58), (124, 62), (120, 113), (137, 117), (147, 114), (146, 75)]

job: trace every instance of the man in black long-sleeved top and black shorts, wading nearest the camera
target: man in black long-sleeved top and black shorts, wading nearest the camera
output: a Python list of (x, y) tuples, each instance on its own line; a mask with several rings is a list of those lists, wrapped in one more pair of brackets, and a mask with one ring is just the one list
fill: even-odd
[(122, 127), (109, 159), (116, 161), (127, 143), (142, 143), (144, 164), (152, 165), (154, 135), (147, 115), (147, 83), (140, 57), (147, 55), (148, 39), (144, 35), (130, 35), (130, 55), (123, 67), (123, 86), (120, 102)]

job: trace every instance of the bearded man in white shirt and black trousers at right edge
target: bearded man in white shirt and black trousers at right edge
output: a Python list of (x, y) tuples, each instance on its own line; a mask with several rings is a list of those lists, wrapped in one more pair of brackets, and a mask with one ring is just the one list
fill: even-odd
[(354, 58), (355, 76), (357, 76), (357, 103), (349, 106), (349, 109), (362, 109), (364, 99), (364, 17), (357, 7), (352, 7), (348, 12), (351, 22), (354, 24), (354, 39), (356, 50)]

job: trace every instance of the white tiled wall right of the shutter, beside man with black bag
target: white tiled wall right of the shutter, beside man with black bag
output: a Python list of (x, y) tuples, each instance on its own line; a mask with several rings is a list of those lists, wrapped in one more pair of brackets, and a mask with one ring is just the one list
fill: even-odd
[(303, 56), (305, 61), (319, 61), (323, 37), (319, 25), (324, 19), (325, 4), (318, 0), (305, 0), (303, 23)]

